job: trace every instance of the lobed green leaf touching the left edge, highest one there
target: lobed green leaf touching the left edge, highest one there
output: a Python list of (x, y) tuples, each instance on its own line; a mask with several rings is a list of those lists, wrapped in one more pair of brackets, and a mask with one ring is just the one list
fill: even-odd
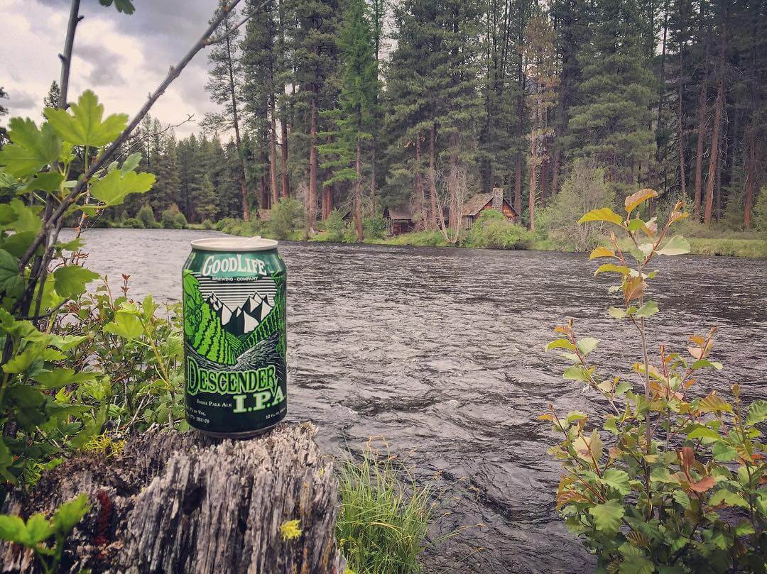
[(61, 139), (48, 123), (38, 130), (29, 118), (14, 117), (8, 122), (8, 128), (12, 143), (0, 149), (0, 166), (5, 166), (5, 171), (15, 178), (29, 177), (58, 160)]

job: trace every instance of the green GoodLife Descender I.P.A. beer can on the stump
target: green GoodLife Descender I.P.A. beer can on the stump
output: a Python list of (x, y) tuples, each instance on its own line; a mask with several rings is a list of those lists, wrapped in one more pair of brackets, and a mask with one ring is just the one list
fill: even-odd
[(285, 291), (277, 241), (192, 241), (183, 270), (186, 421), (245, 438), (288, 411)]

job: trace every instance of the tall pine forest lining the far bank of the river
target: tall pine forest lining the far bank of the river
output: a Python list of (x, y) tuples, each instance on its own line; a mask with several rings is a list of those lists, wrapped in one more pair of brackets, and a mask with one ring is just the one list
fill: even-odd
[(456, 228), (501, 187), (532, 230), (582, 159), (607, 198), (649, 187), (748, 230), (767, 182), (765, 5), (248, 0), (208, 52), (220, 113), (183, 139), (145, 118), (125, 153), (156, 184), (109, 216), (148, 202), (247, 221), (294, 197), (307, 230), (341, 209), (361, 239), (383, 206)]

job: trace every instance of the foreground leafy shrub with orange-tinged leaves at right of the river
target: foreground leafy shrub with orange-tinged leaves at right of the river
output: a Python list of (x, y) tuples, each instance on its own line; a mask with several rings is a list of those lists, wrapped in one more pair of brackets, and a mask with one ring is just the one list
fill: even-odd
[(690, 337), (689, 356), (664, 345), (650, 351), (646, 323), (658, 304), (647, 299), (655, 276), (648, 265), (657, 254), (690, 251), (681, 235), (667, 239), (670, 226), (686, 218), (681, 202), (661, 229), (636, 216), (655, 196), (651, 189), (630, 195), (625, 218), (610, 208), (581, 218), (613, 225), (634, 246), (633, 264), (615, 235), (612, 248), (597, 247), (591, 258), (607, 257), (611, 263), (597, 274), (619, 278), (611, 290), (621, 293), (621, 306), (609, 313), (637, 333), (629, 355), (640, 356), (633, 370), (643, 388), (600, 375), (588, 357), (599, 342), (578, 335), (573, 320), (555, 328), (560, 336), (547, 350), (571, 363), (565, 379), (604, 399), (598, 412), (607, 408), (601, 431), (585, 413), (560, 414), (553, 405), (540, 417), (564, 437), (550, 451), (565, 470), (557, 508), (597, 554), (599, 572), (764, 572), (767, 464), (756, 425), (767, 420), (767, 401), (742, 405), (739, 385), (732, 385), (733, 403), (716, 391), (692, 395), (706, 372), (723, 368), (711, 359), (715, 329)]

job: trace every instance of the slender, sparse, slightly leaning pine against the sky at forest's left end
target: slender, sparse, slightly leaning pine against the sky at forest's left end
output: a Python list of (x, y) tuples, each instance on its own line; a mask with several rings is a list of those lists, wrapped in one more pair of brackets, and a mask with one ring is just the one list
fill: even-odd
[[(219, 7), (219, 10), (222, 8)], [(208, 61), (213, 64), (209, 71), (209, 80), (206, 90), (211, 100), (223, 106), (222, 113), (206, 116), (206, 124), (216, 130), (234, 130), (235, 145), (240, 156), (240, 199), (242, 205), (242, 218), (248, 221), (250, 218), (250, 202), (248, 190), (245, 187), (245, 163), (242, 159), (242, 139), (240, 138), (240, 66), (239, 54), (237, 54), (237, 37), (239, 29), (236, 25), (237, 12), (227, 13), (216, 31), (216, 37), (222, 41), (213, 44), (208, 53)], [(215, 18), (215, 16), (214, 16)]]

